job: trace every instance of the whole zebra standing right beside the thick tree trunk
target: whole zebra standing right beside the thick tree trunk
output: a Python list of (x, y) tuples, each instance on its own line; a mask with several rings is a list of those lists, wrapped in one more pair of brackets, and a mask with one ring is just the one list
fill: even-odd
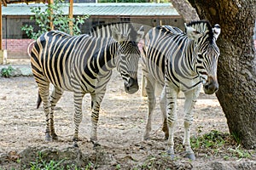
[(185, 95), (183, 144), (187, 157), (195, 160), (189, 141), (193, 122), (192, 109), (200, 94), (201, 84), (205, 94), (213, 94), (218, 90), (219, 49), (216, 40), (220, 27), (217, 24), (212, 28), (206, 20), (193, 21), (185, 27), (186, 31), (183, 32), (177, 27), (157, 26), (145, 36), (143, 75), (147, 81), (148, 122), (143, 138), (148, 139), (155, 93), (161, 90), (163, 131), (170, 145), (168, 153), (174, 158), (173, 132), (177, 122), (177, 94), (182, 91)]

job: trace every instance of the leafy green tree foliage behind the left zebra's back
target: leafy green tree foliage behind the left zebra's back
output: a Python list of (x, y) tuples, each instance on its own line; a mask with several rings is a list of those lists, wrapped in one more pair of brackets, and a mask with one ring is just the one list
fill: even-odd
[(89, 15), (85, 14), (83, 16), (70, 19), (61, 10), (63, 5), (63, 0), (55, 0), (53, 4), (47, 4), (45, 9), (41, 7), (32, 7), (31, 12), (34, 14), (34, 16), (31, 17), (31, 20), (35, 20), (36, 25), (40, 29), (35, 31), (33, 26), (26, 25), (22, 26), (21, 30), (25, 31), (28, 37), (37, 39), (44, 32), (50, 30), (50, 22), (53, 23), (55, 30), (69, 33), (69, 22), (73, 21), (73, 35), (79, 35), (81, 33), (79, 25), (84, 24), (84, 20), (87, 20)]

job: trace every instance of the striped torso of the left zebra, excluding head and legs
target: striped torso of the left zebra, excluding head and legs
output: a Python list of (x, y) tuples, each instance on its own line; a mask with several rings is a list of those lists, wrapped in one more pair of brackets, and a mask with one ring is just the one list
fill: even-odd
[[(65, 90), (73, 91), (71, 80), (74, 79), (86, 80), (87, 86), (96, 88), (94, 82), (103, 66), (114, 66), (111, 65), (112, 62), (108, 62), (113, 55), (104, 51), (108, 44), (117, 46), (109, 37), (96, 38), (86, 34), (70, 36), (61, 31), (46, 32), (38, 38), (32, 49), (33, 74), (38, 79), (52, 82), (56, 87)], [(101, 53), (106, 53), (106, 58)]]

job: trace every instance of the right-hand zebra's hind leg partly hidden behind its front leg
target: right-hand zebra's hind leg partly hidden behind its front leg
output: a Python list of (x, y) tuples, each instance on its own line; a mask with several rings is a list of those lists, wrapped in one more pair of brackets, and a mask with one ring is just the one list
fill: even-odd
[(165, 133), (165, 139), (169, 138), (169, 129), (167, 125), (167, 118), (166, 118), (166, 88), (162, 90), (162, 94), (160, 96), (160, 108), (163, 117), (163, 127), (162, 130)]

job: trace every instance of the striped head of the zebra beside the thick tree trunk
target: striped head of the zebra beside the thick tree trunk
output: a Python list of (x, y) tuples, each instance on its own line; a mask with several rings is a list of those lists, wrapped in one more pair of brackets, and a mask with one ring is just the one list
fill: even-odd
[(220, 26), (209, 22), (195, 21), (186, 26), (189, 39), (195, 41), (195, 71), (201, 78), (205, 94), (214, 94), (218, 90), (217, 64), (219, 49), (216, 40)]

